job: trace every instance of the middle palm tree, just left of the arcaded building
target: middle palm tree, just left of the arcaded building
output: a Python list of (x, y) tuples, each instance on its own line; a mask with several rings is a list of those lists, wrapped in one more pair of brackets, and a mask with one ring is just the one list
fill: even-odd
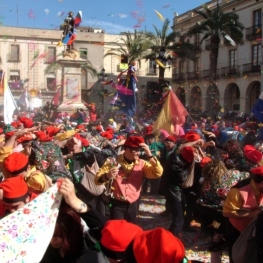
[[(187, 57), (194, 60), (196, 54), (194, 46), (186, 42), (175, 42), (176, 37), (179, 37), (180, 34), (177, 32), (168, 33), (170, 29), (169, 24), (169, 19), (166, 19), (161, 29), (153, 25), (155, 34), (148, 33), (148, 37), (152, 41), (152, 52), (147, 54), (144, 58), (146, 60), (150, 59), (159, 62), (163, 58), (169, 57), (170, 53), (173, 52), (176, 57)], [(164, 72), (165, 67), (159, 66), (159, 83), (164, 79)]]

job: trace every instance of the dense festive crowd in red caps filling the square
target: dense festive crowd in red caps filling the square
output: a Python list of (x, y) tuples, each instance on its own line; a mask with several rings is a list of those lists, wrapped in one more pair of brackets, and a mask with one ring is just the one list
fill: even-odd
[[(114, 118), (51, 123), (18, 113), (2, 122), (0, 219), (59, 183), (63, 201), (42, 263), (82, 262), (87, 254), (94, 263), (184, 263), (182, 235), (195, 231), (193, 220), (211, 235), (212, 263), (225, 250), (241, 263), (234, 261), (238, 238), (252, 223), (255, 238), (263, 235), (257, 123), (201, 118), (171, 134), (154, 131), (153, 122)], [(142, 193), (165, 198), (159, 216), (171, 215), (168, 229), (137, 225)], [(257, 262), (262, 251), (257, 242)]]

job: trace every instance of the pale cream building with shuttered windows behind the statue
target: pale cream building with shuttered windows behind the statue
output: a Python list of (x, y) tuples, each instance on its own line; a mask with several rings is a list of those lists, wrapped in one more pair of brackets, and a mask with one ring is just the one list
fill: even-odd
[[(46, 72), (47, 67), (62, 59), (65, 46), (57, 46), (61, 38), (61, 30), (48, 30), (36, 28), (21, 28), (2, 26), (0, 31), (0, 57), (10, 89), (15, 99), (19, 99), (22, 92), (27, 88), (34, 107), (50, 101), (57, 88), (61, 85), (61, 70)], [(104, 55), (112, 49), (117, 50), (116, 43), (121, 43), (123, 35), (106, 34), (103, 30), (89, 27), (77, 29), (77, 40), (74, 48), (79, 51), (80, 57), (88, 60), (97, 70), (99, 76), (92, 76), (85, 68), (81, 74), (82, 99), (87, 102), (96, 102), (98, 108), (107, 109), (112, 96), (102, 98), (100, 92), (106, 90), (107, 94), (114, 93), (111, 86), (102, 86), (103, 79), (113, 79), (123, 70), (120, 56)], [(144, 96), (149, 100), (156, 100), (149, 95), (149, 87), (158, 81), (158, 67), (153, 61), (142, 60), (137, 64), (139, 82), (138, 98), (140, 106)], [(165, 79), (171, 82), (172, 67), (167, 65)], [(154, 94), (154, 92), (151, 92)], [(0, 105), (3, 96), (0, 95)]]

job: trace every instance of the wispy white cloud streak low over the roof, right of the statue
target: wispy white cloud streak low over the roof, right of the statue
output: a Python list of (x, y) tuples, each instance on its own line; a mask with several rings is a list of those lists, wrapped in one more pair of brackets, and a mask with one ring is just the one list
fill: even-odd
[(119, 34), (121, 32), (134, 32), (134, 28), (117, 25), (110, 22), (98, 21), (98, 20), (85, 20), (81, 23), (81, 26), (90, 26), (96, 28), (102, 28), (105, 33), (108, 34)]

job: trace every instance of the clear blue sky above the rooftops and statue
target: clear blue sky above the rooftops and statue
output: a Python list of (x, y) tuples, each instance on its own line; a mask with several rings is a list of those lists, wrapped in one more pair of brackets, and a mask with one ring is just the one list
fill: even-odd
[[(0, 0), (0, 22), (4, 26), (58, 29), (69, 11), (81, 10), (82, 26), (105, 29), (106, 33), (162, 27), (155, 11), (168, 18), (193, 9), (201, 0)], [(0, 29), (1, 30), (1, 29)]]

